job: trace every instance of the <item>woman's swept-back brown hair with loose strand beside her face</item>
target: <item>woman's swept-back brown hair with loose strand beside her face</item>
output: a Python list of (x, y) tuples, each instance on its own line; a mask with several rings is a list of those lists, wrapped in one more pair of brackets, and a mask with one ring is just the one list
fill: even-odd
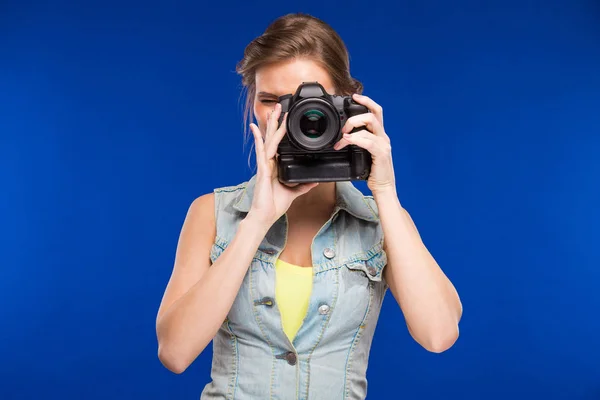
[(335, 30), (308, 14), (287, 14), (271, 23), (264, 33), (246, 46), (236, 71), (246, 91), (244, 129), (247, 132), (256, 94), (255, 74), (263, 65), (308, 58), (331, 76), (338, 95), (362, 93), (362, 84), (350, 75), (348, 50)]

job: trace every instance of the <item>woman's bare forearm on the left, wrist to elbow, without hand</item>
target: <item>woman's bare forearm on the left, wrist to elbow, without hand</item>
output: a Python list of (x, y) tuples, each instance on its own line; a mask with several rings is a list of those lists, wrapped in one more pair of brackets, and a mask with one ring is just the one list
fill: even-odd
[(170, 369), (183, 371), (214, 338), (267, 229), (244, 219), (215, 263), (158, 321), (159, 353), (161, 359), (175, 364)]

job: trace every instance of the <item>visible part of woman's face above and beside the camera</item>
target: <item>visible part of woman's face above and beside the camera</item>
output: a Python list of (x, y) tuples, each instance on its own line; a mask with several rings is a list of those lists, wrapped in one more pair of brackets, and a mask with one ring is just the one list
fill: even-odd
[(254, 117), (263, 135), (267, 128), (267, 115), (274, 110), (277, 98), (295, 93), (302, 82), (319, 82), (327, 93), (335, 93), (327, 71), (311, 60), (294, 59), (266, 65), (256, 71)]

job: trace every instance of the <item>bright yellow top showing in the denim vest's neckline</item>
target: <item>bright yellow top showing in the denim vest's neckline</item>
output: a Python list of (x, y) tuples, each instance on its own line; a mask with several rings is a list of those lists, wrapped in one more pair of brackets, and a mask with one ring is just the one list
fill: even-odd
[(312, 290), (312, 268), (299, 267), (285, 261), (275, 262), (275, 301), (281, 314), (283, 331), (290, 339), (296, 333), (308, 309)]

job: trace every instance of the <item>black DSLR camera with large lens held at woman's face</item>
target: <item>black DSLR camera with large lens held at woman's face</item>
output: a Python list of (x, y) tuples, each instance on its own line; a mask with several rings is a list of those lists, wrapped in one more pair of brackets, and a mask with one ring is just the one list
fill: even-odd
[[(318, 82), (303, 82), (296, 93), (278, 99), (281, 116), (287, 112), (286, 134), (278, 146), (279, 180), (285, 183), (366, 180), (371, 154), (358, 146), (335, 150), (348, 118), (368, 113), (351, 96), (327, 93)], [(351, 133), (364, 129), (357, 127)]]

